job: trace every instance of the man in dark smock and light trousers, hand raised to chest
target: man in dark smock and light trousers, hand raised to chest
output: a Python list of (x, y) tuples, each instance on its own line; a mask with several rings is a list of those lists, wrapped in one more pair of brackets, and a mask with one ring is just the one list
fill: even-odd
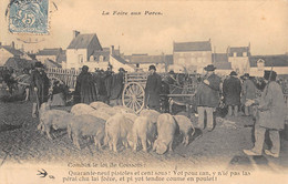
[(219, 85), (220, 78), (214, 73), (215, 67), (213, 64), (204, 68), (206, 75), (203, 82), (198, 85), (196, 92), (196, 104), (198, 111), (198, 127), (204, 130), (205, 112), (207, 114), (207, 130), (214, 129), (213, 112), (219, 105)]

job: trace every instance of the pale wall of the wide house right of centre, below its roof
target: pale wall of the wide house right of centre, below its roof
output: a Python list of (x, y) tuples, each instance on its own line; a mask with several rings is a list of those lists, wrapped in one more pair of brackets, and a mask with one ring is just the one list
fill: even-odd
[(203, 73), (204, 67), (212, 64), (212, 51), (174, 52), (174, 64), (185, 67), (188, 72)]

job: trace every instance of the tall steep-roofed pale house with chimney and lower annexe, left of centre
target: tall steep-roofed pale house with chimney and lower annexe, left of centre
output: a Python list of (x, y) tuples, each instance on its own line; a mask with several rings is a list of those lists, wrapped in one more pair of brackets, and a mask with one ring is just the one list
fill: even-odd
[(62, 64), (64, 69), (80, 70), (88, 65), (90, 71), (96, 69), (106, 70), (112, 65), (112, 70), (117, 72), (120, 68), (126, 71), (134, 71), (120, 53), (120, 49), (102, 48), (95, 33), (81, 34), (79, 31), (73, 32), (73, 40), (66, 49), (66, 62)]

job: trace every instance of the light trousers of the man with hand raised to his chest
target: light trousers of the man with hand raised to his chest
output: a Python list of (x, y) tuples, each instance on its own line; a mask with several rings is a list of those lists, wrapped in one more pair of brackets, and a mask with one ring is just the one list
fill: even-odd
[(198, 111), (198, 127), (204, 130), (204, 127), (205, 127), (204, 120), (205, 120), (205, 114), (206, 114), (206, 116), (207, 116), (206, 127), (208, 130), (212, 130), (213, 125), (214, 125), (214, 119), (213, 119), (214, 108), (198, 106), (197, 111)]

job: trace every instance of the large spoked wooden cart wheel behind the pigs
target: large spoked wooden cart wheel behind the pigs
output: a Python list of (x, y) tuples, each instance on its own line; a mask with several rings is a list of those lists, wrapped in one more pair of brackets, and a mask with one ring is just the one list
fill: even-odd
[(124, 86), (122, 93), (123, 106), (130, 108), (138, 113), (144, 108), (145, 92), (141, 84), (131, 82)]

